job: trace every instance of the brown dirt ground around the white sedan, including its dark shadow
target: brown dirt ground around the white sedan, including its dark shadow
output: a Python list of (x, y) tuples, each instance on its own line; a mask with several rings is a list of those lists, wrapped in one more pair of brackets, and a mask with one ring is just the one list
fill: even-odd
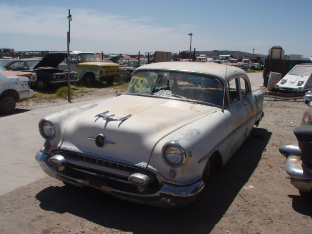
[[(47, 104), (25, 108), (43, 107)], [(311, 234), (312, 200), (291, 185), (286, 159), (278, 152), (280, 146), (296, 143), (292, 131), (306, 109), (302, 100), (265, 98), (265, 117), (253, 136), (191, 206), (167, 210), (138, 205), (47, 176), (0, 196), (0, 233)]]

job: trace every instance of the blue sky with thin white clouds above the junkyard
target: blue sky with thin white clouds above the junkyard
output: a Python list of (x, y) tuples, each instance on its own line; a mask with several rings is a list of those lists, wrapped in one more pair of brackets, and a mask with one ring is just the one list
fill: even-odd
[(312, 0), (0, 0), (0, 48), (104, 54), (234, 50), (312, 56)]

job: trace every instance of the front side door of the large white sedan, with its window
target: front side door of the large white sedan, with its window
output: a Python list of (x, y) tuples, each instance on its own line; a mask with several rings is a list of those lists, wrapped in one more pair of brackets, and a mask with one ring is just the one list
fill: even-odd
[(239, 76), (227, 81), (227, 92), (230, 100), (230, 106), (227, 109), (230, 112), (232, 122), (231, 154), (234, 154), (248, 137), (247, 125), (251, 105), (245, 99), (246, 91), (241, 89)]

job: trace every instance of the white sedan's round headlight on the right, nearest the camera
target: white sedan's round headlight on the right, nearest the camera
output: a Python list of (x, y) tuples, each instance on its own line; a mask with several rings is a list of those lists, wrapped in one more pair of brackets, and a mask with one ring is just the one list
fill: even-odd
[(176, 142), (168, 142), (163, 146), (162, 155), (171, 166), (180, 166), (185, 158), (184, 149)]

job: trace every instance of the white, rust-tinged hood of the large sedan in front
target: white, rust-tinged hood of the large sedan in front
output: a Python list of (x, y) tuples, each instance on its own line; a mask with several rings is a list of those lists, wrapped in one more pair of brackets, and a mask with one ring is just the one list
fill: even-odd
[[(72, 119), (66, 127), (62, 149), (146, 166), (156, 143), (175, 130), (220, 108), (187, 101), (123, 95), (109, 99)], [(95, 117), (131, 117), (123, 121)], [(93, 140), (105, 136), (103, 148)]]

